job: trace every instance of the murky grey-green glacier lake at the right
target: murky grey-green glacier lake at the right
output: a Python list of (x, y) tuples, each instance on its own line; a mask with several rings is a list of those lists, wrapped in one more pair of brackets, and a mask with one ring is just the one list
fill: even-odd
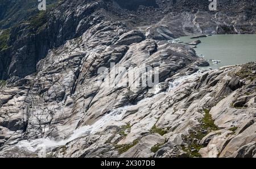
[[(191, 39), (195, 36), (179, 37), (180, 42), (189, 43), (200, 40), (196, 53), (199, 57), (204, 57), (210, 64), (209, 67), (218, 67), (244, 64), (256, 61), (256, 35), (212, 35)], [(213, 60), (213, 61), (212, 61)], [(214, 61), (220, 61), (218, 64)]]

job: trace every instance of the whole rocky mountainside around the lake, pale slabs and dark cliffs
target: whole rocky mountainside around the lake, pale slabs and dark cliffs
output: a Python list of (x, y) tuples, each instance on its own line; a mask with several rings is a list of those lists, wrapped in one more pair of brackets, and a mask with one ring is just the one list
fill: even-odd
[(63, 1), (1, 32), (0, 157), (255, 157), (256, 64), (197, 71), (167, 41), (254, 33), (255, 11), (137, 2)]

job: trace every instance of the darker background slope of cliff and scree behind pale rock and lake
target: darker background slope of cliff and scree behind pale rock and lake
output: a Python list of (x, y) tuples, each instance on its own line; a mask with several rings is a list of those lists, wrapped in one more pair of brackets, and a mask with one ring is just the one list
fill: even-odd
[[(119, 20), (156, 40), (169, 40), (192, 33), (255, 32), (255, 1), (249, 1), (250, 6), (244, 3), (247, 1), (234, 3), (234, 6), (220, 1), (223, 6), (217, 12), (209, 12), (208, 2), (205, 1), (189, 1), (188, 5), (185, 2), (162, 4), (162, 1), (157, 1), (159, 7), (141, 6), (138, 10), (129, 11), (118, 9), (110, 0), (59, 1), (54, 9), (39, 12), (27, 22), (1, 31), (0, 78), (13, 82), (35, 73), (36, 64), (46, 57), (49, 49), (81, 36), (91, 26), (93, 18)], [(84, 7), (89, 3), (93, 5)], [(96, 19), (92, 22), (98, 23)], [(146, 29), (148, 27), (149, 30)]]

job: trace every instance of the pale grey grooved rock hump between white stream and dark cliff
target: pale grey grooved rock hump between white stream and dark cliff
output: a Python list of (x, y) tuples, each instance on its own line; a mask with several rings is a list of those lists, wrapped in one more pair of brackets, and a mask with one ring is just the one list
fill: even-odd
[[(141, 39), (130, 41), (130, 37), (141, 37)], [(36, 65), (38, 69), (36, 74), (23, 78), (22, 83), (12, 83), (13, 87), (1, 88), (3, 132), (1, 156), (23, 157), (22, 153), (10, 154), (10, 151), (23, 149), (27, 140), (36, 142), (35, 145), (30, 145), (31, 147), (47, 145), (44, 140), (46, 137), (53, 141), (51, 143), (53, 147), (64, 146), (65, 143), (59, 141), (65, 138), (71, 139), (76, 128), (97, 124), (102, 116), (108, 116), (115, 108), (122, 109), (123, 106), (139, 102), (144, 97), (151, 97), (156, 92), (166, 91), (168, 88), (168, 84), (164, 83), (166, 78), (197, 60), (195, 51), (184, 45), (158, 44), (158, 41), (144, 38), (142, 32), (129, 31), (118, 22), (102, 21), (90, 27), (81, 37), (69, 40), (58, 49), (51, 50), (47, 57)], [(98, 69), (104, 66), (111, 71), (113, 67), (110, 67), (110, 62), (120, 67), (140, 68), (143, 65), (158, 67), (160, 82), (163, 82), (162, 89), (158, 91), (157, 86), (152, 87), (152, 90), (146, 87), (108, 87), (105, 85), (107, 82), (104, 81), (98, 84), (99, 79), (104, 75), (101, 72), (98, 74)], [(115, 122), (113, 124), (116, 125)], [(117, 127), (123, 124), (121, 122)], [(107, 122), (100, 129), (108, 126)], [(12, 138), (13, 132), (18, 133), (15, 138)], [(81, 135), (84, 134), (86, 132)], [(103, 149), (108, 151), (113, 149), (113, 144), (105, 146), (105, 143), (99, 140), (102, 137), (98, 136), (97, 141), (104, 146), (98, 150), (98, 153)], [(109, 134), (109, 138), (112, 136)], [(138, 136), (140, 135), (137, 134), (135, 137)], [(164, 140), (162, 136), (160, 138), (162, 143)], [(122, 137), (116, 140), (123, 144), (127, 142)], [(52, 149), (52, 146), (47, 147), (47, 150)], [(150, 152), (151, 146), (153, 145), (148, 146), (147, 152)], [(91, 154), (94, 148), (88, 145), (88, 151), (81, 151), (76, 157), (94, 157)], [(28, 153), (31, 156), (39, 150), (24, 149), (31, 151)], [(88, 155), (85, 155), (85, 152)], [(146, 155), (147, 152), (142, 154)], [(118, 152), (115, 150), (108, 154), (112, 157), (117, 156)], [(56, 156), (59, 155), (59, 152), (56, 152)], [(97, 157), (98, 154), (95, 155)]]

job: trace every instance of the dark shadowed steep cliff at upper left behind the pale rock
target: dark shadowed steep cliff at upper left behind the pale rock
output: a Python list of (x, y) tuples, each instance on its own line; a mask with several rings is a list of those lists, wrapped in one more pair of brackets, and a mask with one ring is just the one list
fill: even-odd
[(72, 2), (80, 11), (74, 12), (72, 7), (68, 6), (71, 2), (65, 1), (56, 9), (41, 12), (28, 19), (27, 23), (11, 28), (9, 48), (0, 51), (0, 65), (3, 65), (1, 79), (9, 79), (9, 82), (13, 83), (19, 78), (35, 73), (37, 62), (46, 57), (49, 49), (63, 45), (68, 39), (81, 36), (90, 26), (99, 23), (101, 15), (95, 11), (101, 7), (100, 2)]

